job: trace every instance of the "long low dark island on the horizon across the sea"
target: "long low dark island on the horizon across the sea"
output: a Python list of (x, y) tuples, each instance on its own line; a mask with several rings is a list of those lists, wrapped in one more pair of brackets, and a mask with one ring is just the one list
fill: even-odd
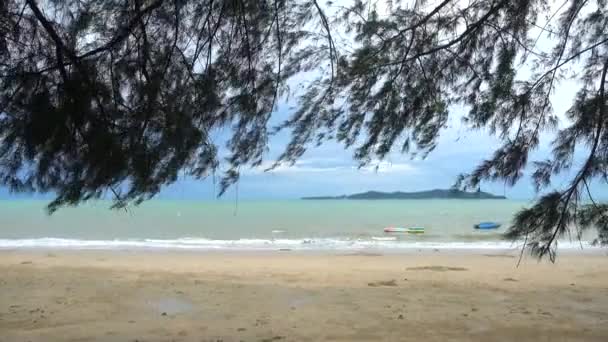
[(383, 199), (506, 199), (505, 196), (493, 195), (483, 191), (467, 192), (461, 190), (434, 189), (416, 192), (380, 192), (367, 191), (342, 196), (302, 197), (303, 200), (383, 200)]

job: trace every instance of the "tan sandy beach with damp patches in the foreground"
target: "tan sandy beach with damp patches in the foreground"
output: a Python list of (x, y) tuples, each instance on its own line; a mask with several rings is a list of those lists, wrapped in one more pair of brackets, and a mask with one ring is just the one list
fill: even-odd
[(607, 341), (608, 257), (0, 252), (0, 341)]

